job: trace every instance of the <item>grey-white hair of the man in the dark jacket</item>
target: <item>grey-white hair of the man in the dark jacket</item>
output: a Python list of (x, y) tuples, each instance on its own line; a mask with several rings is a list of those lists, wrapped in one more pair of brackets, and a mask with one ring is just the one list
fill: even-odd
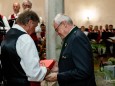
[(73, 21), (69, 16), (62, 13), (57, 14), (54, 18), (54, 22), (60, 24), (62, 21), (66, 21), (68, 24), (73, 24)]

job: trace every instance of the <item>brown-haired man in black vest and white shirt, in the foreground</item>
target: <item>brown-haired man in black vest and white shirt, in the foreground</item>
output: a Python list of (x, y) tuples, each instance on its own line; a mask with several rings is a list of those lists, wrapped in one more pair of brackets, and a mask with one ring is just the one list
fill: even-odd
[[(30, 35), (39, 23), (38, 15), (25, 10), (1, 43), (1, 62), (6, 86), (30, 86), (40, 82), (49, 72), (39, 64), (39, 55)], [(40, 84), (38, 85), (40, 86)]]

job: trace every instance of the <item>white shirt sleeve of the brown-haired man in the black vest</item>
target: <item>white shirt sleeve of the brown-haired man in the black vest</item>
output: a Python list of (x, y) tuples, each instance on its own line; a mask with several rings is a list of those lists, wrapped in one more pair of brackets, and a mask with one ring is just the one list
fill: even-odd
[(46, 67), (40, 66), (39, 55), (34, 41), (28, 34), (20, 36), (16, 43), (16, 50), (21, 58), (21, 66), (29, 81), (42, 81), (46, 75)]

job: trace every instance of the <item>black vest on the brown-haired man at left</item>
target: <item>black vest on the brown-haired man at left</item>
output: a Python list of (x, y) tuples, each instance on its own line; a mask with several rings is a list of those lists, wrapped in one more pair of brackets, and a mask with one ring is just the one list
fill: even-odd
[(6, 79), (17, 78), (27, 80), (27, 76), (20, 65), (21, 58), (16, 52), (17, 39), (23, 34), (26, 33), (12, 28), (7, 32), (1, 43), (1, 62)]

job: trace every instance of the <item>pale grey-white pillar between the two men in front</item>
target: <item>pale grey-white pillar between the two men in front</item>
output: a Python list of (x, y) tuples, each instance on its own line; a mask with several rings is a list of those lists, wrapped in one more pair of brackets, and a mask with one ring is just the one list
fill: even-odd
[(45, 0), (46, 54), (48, 59), (59, 59), (61, 39), (53, 28), (53, 19), (58, 13), (64, 13), (64, 0)]

